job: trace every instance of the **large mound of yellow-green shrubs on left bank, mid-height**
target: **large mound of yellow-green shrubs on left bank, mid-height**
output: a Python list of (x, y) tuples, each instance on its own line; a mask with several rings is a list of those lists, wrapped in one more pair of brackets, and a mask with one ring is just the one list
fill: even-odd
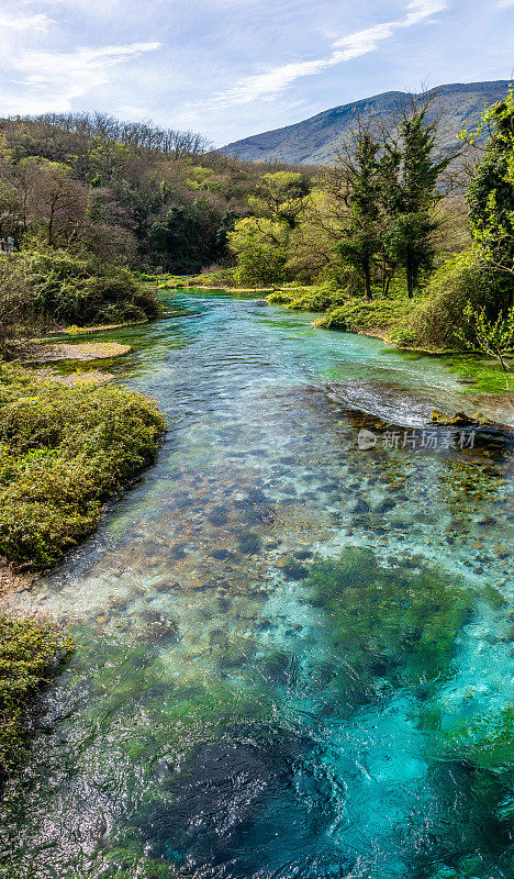
[(165, 421), (116, 387), (35, 381), (0, 367), (0, 554), (53, 565), (98, 523), (101, 502), (155, 454)]

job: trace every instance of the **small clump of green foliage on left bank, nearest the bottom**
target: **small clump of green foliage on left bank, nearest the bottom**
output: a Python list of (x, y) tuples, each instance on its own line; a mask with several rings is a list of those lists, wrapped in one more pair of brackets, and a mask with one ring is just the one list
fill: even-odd
[(22, 759), (30, 699), (71, 650), (53, 626), (0, 615), (0, 779)]

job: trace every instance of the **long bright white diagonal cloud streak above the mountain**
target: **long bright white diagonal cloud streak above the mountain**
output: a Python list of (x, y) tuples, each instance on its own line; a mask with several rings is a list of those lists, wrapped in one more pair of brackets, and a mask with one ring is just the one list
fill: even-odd
[[(506, 1), (514, 2), (514, 0)], [(376, 52), (380, 43), (393, 36), (400, 27), (412, 27), (426, 22), (445, 9), (445, 0), (412, 0), (406, 5), (404, 19), (376, 24), (373, 27), (343, 36), (332, 44), (332, 53), (324, 58), (271, 67), (261, 74), (248, 77), (233, 88), (217, 92), (214, 100), (222, 107), (249, 103), (257, 99), (271, 100), (300, 77), (313, 76), (327, 67)]]

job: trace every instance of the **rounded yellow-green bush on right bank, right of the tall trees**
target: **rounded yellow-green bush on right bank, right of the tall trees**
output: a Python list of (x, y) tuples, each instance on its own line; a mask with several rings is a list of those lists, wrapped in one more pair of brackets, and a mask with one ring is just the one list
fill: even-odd
[(459, 348), (468, 302), (483, 307), (491, 316), (506, 303), (505, 282), (476, 251), (465, 251), (434, 272), (426, 298), (407, 321), (405, 341), (431, 348)]

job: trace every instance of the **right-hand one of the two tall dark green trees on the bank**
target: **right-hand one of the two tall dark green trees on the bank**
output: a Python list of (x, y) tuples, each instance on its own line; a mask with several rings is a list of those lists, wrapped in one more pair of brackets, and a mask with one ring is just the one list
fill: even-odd
[(380, 160), (381, 200), (386, 214), (383, 235), (387, 257), (404, 267), (410, 298), (422, 269), (432, 269), (435, 249), (432, 234), (437, 229), (432, 209), (442, 198), (437, 180), (449, 157), (434, 160), (437, 123), (426, 119), (427, 108), (404, 111), (399, 140), (384, 140)]

